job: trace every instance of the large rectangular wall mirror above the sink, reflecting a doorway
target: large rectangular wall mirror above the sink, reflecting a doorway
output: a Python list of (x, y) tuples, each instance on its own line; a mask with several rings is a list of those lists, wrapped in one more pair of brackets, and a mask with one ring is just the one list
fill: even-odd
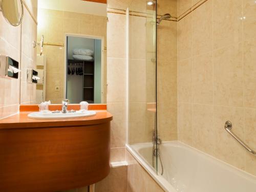
[(105, 103), (106, 4), (38, 0), (37, 20), (36, 103)]

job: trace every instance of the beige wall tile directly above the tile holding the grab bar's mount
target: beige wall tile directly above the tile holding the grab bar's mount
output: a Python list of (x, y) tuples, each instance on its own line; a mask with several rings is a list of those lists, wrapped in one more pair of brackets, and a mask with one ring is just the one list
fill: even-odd
[(214, 51), (214, 103), (243, 106), (242, 44)]

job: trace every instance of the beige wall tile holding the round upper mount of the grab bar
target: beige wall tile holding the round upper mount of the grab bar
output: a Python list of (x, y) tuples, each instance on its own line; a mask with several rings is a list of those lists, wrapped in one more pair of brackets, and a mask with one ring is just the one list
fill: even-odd
[(223, 128), (227, 120), (232, 122), (233, 132), (244, 140), (243, 108), (214, 106), (214, 131), (217, 134), (217, 143), (213, 145), (215, 146), (214, 156), (238, 168), (245, 169), (246, 151)]

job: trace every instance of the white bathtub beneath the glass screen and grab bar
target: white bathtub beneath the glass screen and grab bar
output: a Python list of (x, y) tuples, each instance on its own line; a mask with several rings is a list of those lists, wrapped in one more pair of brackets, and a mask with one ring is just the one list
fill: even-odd
[[(179, 141), (163, 142), (163, 176), (153, 163), (152, 143), (127, 145), (127, 150), (156, 182), (170, 192), (256, 192), (256, 177)], [(161, 165), (158, 160), (158, 173)]]

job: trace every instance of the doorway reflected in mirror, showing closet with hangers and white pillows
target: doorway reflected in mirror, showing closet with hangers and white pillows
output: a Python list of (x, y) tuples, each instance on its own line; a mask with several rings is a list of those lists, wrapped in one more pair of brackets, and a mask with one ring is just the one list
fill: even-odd
[(64, 96), (70, 103), (101, 103), (103, 37), (66, 35)]

